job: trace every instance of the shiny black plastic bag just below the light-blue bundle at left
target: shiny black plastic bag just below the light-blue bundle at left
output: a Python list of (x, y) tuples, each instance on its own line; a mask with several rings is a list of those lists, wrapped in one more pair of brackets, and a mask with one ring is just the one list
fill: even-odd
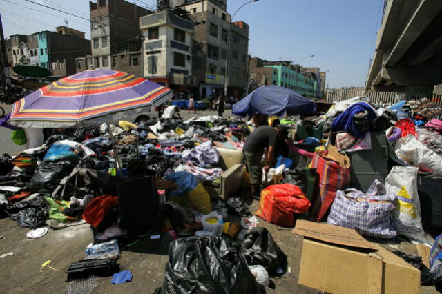
[(70, 172), (72, 172), (77, 164), (77, 159), (43, 161), (43, 163), (35, 168), (34, 175), (32, 175), (29, 182), (29, 188), (31, 190), (46, 190), (52, 193), (60, 184), (61, 179), (70, 175)]

